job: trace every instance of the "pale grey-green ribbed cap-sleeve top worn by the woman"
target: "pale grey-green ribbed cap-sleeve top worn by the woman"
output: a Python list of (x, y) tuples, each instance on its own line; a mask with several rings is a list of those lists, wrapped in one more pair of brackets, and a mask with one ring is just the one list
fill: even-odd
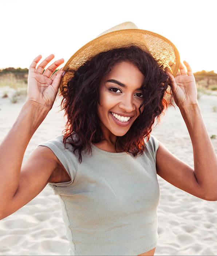
[(82, 163), (63, 135), (49, 147), (71, 181), (49, 185), (59, 195), (70, 255), (139, 255), (157, 245), (158, 140), (151, 135), (142, 155), (111, 153), (92, 145)]

